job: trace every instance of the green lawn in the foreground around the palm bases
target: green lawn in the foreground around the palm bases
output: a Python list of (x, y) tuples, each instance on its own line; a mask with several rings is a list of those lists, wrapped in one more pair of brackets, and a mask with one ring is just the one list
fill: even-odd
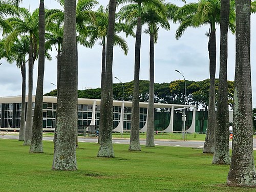
[(185, 147), (144, 147), (127, 151), (114, 144), (115, 158), (97, 158), (99, 145), (79, 143), (76, 172), (51, 170), (53, 142), (28, 153), (17, 140), (0, 139), (0, 191), (255, 191), (226, 186), (227, 165)]

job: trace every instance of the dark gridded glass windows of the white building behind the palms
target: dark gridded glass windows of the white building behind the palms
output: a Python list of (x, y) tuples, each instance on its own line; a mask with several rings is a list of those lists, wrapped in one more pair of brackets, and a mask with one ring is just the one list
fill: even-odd
[[(2, 105), (4, 110), (2, 110)], [(33, 103), (34, 110), (35, 103)], [(2, 111), (4, 111), (4, 124), (1, 127), (19, 127), (20, 115), (22, 111), (21, 103), (6, 103), (0, 105), (0, 123), (2, 118)], [(56, 109), (57, 104), (52, 102), (44, 102), (42, 104), (42, 121), (44, 129), (54, 129), (56, 126)], [(92, 104), (78, 104), (77, 105), (77, 122), (78, 125), (90, 125), (93, 120), (93, 105)], [(33, 111), (34, 113), (34, 111)], [(147, 108), (140, 108), (140, 128), (146, 123)], [(131, 130), (131, 116), (132, 108), (124, 107), (123, 115), (123, 130)], [(120, 123), (121, 106), (113, 106), (113, 129)], [(100, 105), (95, 106), (95, 125), (99, 125), (100, 119)], [(13, 123), (15, 121), (15, 123)]]

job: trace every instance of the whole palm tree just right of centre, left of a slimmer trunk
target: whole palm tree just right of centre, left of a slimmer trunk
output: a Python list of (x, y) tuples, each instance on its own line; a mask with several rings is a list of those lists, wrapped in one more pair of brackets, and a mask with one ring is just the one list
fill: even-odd
[[(130, 137), (130, 151), (140, 151), (139, 141), (139, 76), (140, 76), (140, 48), (141, 48), (141, 34), (142, 34), (142, 8), (146, 5), (161, 8), (162, 2), (159, 0), (118, 0), (118, 4), (135, 3), (122, 7), (119, 11), (119, 20), (126, 20), (126, 23), (136, 28), (135, 40), (135, 59), (134, 59), (134, 89), (133, 89), (133, 103), (132, 103), (132, 124)], [(136, 18), (135, 18), (136, 17)]]

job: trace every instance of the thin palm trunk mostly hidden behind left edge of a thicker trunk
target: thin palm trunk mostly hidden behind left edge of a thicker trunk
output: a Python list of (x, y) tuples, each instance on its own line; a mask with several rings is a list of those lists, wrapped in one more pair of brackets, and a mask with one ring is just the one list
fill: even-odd
[[(102, 42), (102, 60), (101, 60), (101, 95), (104, 93), (104, 86), (105, 86), (105, 80), (106, 80), (106, 45), (105, 45), (105, 38)], [(100, 113), (100, 119), (104, 118), (103, 114)], [(101, 138), (101, 127), (103, 127), (102, 121), (99, 121), (99, 137), (98, 137), (98, 144), (100, 144), (100, 138)]]

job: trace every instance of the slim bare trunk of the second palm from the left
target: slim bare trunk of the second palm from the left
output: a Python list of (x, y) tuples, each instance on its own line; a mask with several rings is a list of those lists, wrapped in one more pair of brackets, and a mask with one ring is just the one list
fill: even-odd
[(27, 106), (27, 116), (26, 116), (26, 127), (25, 127), (25, 137), (24, 145), (31, 144), (31, 133), (32, 133), (32, 95), (33, 94), (33, 40), (32, 34), (30, 35), (30, 45), (29, 45), (29, 93), (28, 93), (28, 106)]

